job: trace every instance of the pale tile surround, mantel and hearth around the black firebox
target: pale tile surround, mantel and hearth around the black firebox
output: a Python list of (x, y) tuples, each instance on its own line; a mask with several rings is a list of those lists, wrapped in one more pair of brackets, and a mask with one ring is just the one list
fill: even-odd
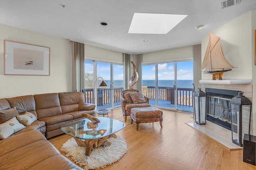
[[(252, 101), (252, 80), (250, 80), (250, 79), (224, 80), (224, 81), (222, 81), (222, 80), (200, 80), (199, 83), (200, 83), (200, 88), (204, 92), (206, 92), (206, 88), (243, 91), (244, 96), (246, 96), (248, 99), (250, 99), (250, 101)], [(252, 134), (252, 124), (253, 123), (252, 123), (252, 119), (251, 119), (250, 134)], [(190, 125), (190, 126), (192, 126), (192, 125)], [(232, 147), (226, 146), (226, 148), (229, 148), (230, 150), (241, 149), (241, 147), (239, 147), (237, 145), (236, 145), (237, 147), (236, 146), (234, 147), (232, 140), (231, 140), (231, 130), (222, 128), (219, 125), (216, 125), (209, 121), (206, 121), (206, 125), (202, 125), (202, 126), (206, 126), (206, 127), (204, 127), (204, 129), (206, 129), (206, 130), (200, 130), (200, 127), (196, 127), (196, 126), (197, 125), (193, 125), (192, 127), (196, 128), (196, 130), (201, 131), (203, 134), (206, 134), (207, 136), (213, 138), (220, 144), (226, 145), (223, 143), (225, 140), (224, 138), (230, 138), (230, 145), (232, 145)], [(207, 128), (207, 127), (209, 127), (209, 128)], [(202, 127), (201, 127), (201, 129), (202, 129)], [(216, 134), (214, 135), (212, 133), (213, 131), (219, 131), (220, 133), (225, 133), (226, 137), (224, 136), (223, 139), (219, 139), (219, 137), (216, 138)], [(211, 134), (212, 134), (212, 136), (211, 136)]]

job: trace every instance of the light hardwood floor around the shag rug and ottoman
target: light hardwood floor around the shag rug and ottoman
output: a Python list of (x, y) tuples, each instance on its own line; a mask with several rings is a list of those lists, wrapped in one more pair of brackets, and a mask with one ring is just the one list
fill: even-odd
[[(243, 162), (242, 150), (227, 150), (186, 125), (194, 122), (192, 116), (163, 110), (163, 128), (159, 122), (141, 123), (138, 131), (127, 117), (126, 127), (116, 134), (125, 138), (128, 151), (104, 170), (256, 170), (256, 166)], [(121, 109), (111, 111), (109, 117), (124, 121)], [(62, 134), (49, 141), (60, 151), (70, 138)]]

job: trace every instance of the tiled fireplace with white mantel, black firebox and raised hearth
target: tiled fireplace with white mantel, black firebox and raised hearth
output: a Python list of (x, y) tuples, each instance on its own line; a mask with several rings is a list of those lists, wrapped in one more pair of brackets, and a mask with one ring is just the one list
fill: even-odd
[[(206, 120), (206, 125), (198, 125), (196, 123), (186, 123), (190, 127), (198, 130), (202, 134), (212, 138), (225, 148), (229, 150), (242, 149), (243, 147), (232, 142), (232, 132), (230, 130), (230, 115), (228, 111), (229, 101), (234, 97), (237, 91), (243, 91), (250, 101), (252, 101), (252, 80), (251, 79), (236, 79), (236, 80), (200, 80), (201, 90), (210, 92), (208, 104), (210, 105), (209, 111), (214, 119), (221, 119), (219, 122)], [(222, 94), (222, 92), (226, 94)], [(235, 93), (234, 93), (235, 92)], [(222, 95), (220, 95), (222, 94)], [(215, 98), (215, 99), (214, 99)], [(218, 111), (214, 111), (214, 109)], [(208, 112), (208, 111), (207, 111)], [(208, 119), (211, 119), (208, 118)], [(214, 122), (214, 123), (213, 123)], [(223, 125), (226, 123), (226, 125)], [(221, 124), (221, 125), (220, 125)], [(226, 126), (226, 127), (225, 127)], [(250, 134), (252, 134), (252, 119), (250, 122)]]

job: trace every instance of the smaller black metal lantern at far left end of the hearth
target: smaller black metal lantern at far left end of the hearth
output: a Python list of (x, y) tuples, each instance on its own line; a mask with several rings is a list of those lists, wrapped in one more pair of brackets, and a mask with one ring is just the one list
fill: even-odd
[(194, 92), (194, 109), (196, 124), (205, 125), (206, 122), (206, 94), (198, 88)]

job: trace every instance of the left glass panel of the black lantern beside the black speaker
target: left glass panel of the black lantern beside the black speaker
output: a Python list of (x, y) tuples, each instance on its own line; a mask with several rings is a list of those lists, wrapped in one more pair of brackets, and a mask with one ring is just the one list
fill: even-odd
[(240, 122), (240, 105), (236, 105), (236, 104), (233, 104), (233, 103), (231, 103), (230, 104), (230, 106), (231, 106), (231, 109), (230, 109), (230, 111), (231, 111), (231, 117), (232, 117), (232, 140), (234, 141), (234, 142), (237, 142), (237, 143), (239, 143), (239, 134), (240, 134), (240, 132), (239, 132), (239, 130), (240, 130), (240, 124), (239, 124), (239, 122)]

